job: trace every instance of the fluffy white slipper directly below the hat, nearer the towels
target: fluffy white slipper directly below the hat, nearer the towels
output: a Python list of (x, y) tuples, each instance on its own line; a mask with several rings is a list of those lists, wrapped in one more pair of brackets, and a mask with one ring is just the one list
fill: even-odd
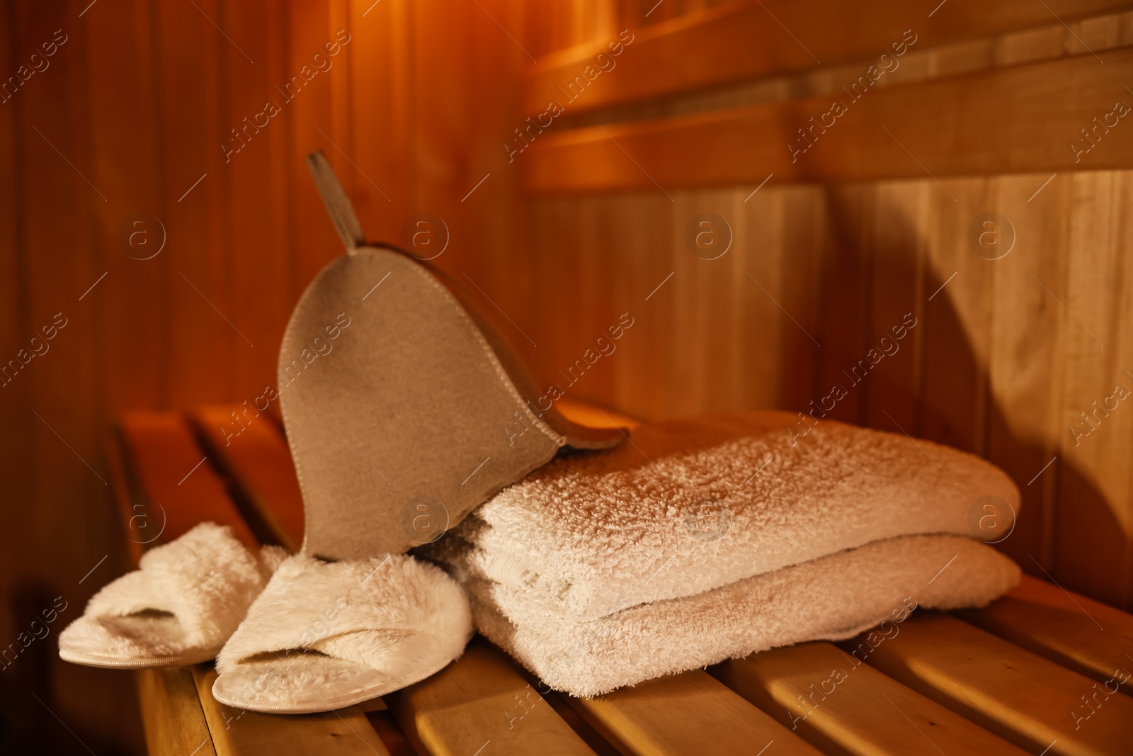
[(472, 635), (463, 589), (408, 554), (284, 561), (216, 657), (213, 697), (256, 712), (325, 712), (423, 680)]

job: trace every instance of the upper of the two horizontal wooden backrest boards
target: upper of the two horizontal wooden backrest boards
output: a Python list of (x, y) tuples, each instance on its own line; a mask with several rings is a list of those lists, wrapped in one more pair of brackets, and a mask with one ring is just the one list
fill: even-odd
[[(612, 59), (614, 68), (598, 74), (593, 82), (585, 77), (583, 69), (588, 65), (599, 69), (595, 57), (605, 53), (610, 58), (607, 45), (616, 34), (611, 40), (542, 58), (528, 68), (523, 110), (533, 116), (543, 112), (548, 102), (557, 101), (566, 112), (586, 112), (802, 71), (817, 66), (811, 52), (823, 66), (868, 61), (898, 41), (906, 28), (918, 35), (914, 49), (925, 49), (1057, 24), (1053, 14), (1073, 22), (1130, 8), (1128, 2), (1115, 0), (1047, 0), (1046, 5), (1049, 10), (1039, 2), (949, 0), (928, 18), (931, 8), (922, 9), (904, 0), (876, 0), (868, 6), (840, 0), (764, 0), (765, 7), (750, 1), (730, 2), (632, 29), (633, 41)], [(559, 87), (565, 90), (577, 76), (585, 77), (585, 86), (579, 90), (576, 85), (572, 94), (577, 93), (577, 100), (568, 102)]]

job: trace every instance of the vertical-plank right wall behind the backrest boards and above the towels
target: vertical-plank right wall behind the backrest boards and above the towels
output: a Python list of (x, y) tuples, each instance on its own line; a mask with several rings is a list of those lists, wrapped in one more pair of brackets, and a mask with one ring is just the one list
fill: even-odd
[[(539, 3), (542, 11), (527, 17), (528, 50), (544, 59), (709, 5)], [(1131, 42), (1127, 12), (1067, 26), (1050, 17), (1023, 32), (910, 51), (879, 86)], [(573, 120), (568, 113), (563, 127), (832, 92), (867, 62)], [(648, 173), (650, 165), (639, 168)], [(824, 398), (842, 385), (846, 396), (829, 417), (971, 451), (1015, 479), (1023, 508), (998, 547), (1024, 570), (1130, 608), (1133, 405), (1118, 401), (1107, 413), (1094, 402), (1113, 407), (1117, 387), (1133, 390), (1133, 175), (1065, 172), (1045, 185), (1049, 178), (773, 180), (755, 194), (757, 182), (650, 185), (632, 194), (535, 197), (527, 205), (530, 252), (512, 263), (534, 292), (529, 309), (512, 315), (528, 337), (517, 334), (517, 343), (564, 383), (573, 375), (559, 371), (630, 313), (634, 325), (617, 350), (571, 390), (649, 418), (806, 411), (811, 401), (828, 406)], [(717, 260), (685, 246), (689, 221), (704, 212), (724, 218), (733, 232)], [(1015, 229), (1000, 260), (969, 245), (969, 227), (985, 212), (1005, 215)], [(853, 367), (909, 316), (917, 325), (898, 351), (857, 382), (861, 371)]]

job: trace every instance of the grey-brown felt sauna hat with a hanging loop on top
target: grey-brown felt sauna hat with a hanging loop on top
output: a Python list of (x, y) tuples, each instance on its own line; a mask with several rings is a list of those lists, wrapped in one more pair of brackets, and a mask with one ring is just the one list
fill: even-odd
[(460, 286), (407, 252), (366, 244), (325, 155), (307, 163), (347, 254), (307, 287), (280, 347), (304, 553), (403, 552), (560, 448), (622, 440), (540, 404), (514, 349)]

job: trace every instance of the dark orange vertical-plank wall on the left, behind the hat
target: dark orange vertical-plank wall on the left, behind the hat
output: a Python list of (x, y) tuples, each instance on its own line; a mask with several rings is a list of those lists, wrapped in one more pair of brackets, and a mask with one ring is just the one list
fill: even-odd
[[(0, 648), (66, 602), (0, 670), (0, 727), (32, 738), (19, 753), (144, 750), (133, 676), (57, 657), (58, 631), (128, 569), (103, 442), (125, 410), (241, 402), (274, 381), (292, 306), (342, 252), (304, 155), (327, 153), (370, 238), (443, 218), (437, 263), (513, 303), (506, 271), (486, 265), (520, 228), (496, 144), (523, 54), (500, 25), (521, 34), (520, 14), (500, 0), (0, 3), (3, 76), (42, 69), (0, 102), (0, 360), (43, 352), (0, 385)], [(269, 101), (280, 112), (245, 131)], [(164, 226), (148, 260), (120, 239), (135, 213)], [(32, 345), (57, 315), (49, 349)]]

